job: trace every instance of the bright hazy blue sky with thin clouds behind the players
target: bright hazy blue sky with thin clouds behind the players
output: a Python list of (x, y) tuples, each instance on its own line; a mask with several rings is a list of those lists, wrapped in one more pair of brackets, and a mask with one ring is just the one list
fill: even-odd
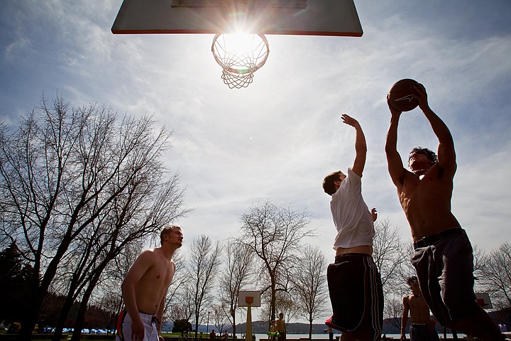
[[(511, 2), (356, 0), (363, 36), (267, 36), (253, 83), (229, 89), (211, 55), (213, 35), (114, 35), (122, 0), (6, 0), (0, 11), (0, 121), (16, 124), (44, 96), (74, 107), (153, 115), (173, 131), (167, 166), (181, 175), (199, 234), (236, 236), (240, 215), (270, 200), (311, 215), (327, 259), (336, 230), (322, 180), (353, 164), (358, 119), (368, 158), (363, 197), (411, 242), (385, 160), (386, 94), (412, 78), (454, 137), (452, 211), (487, 252), (510, 242)], [(402, 114), (398, 151), (436, 151), (417, 108)]]

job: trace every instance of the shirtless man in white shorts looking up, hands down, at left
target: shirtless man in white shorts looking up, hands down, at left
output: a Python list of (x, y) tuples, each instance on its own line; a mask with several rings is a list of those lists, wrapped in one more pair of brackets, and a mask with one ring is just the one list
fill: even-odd
[(172, 255), (182, 245), (178, 226), (160, 233), (161, 247), (145, 250), (136, 259), (122, 283), (127, 313), (121, 317), (118, 341), (163, 341), (159, 337), (165, 295), (175, 273)]

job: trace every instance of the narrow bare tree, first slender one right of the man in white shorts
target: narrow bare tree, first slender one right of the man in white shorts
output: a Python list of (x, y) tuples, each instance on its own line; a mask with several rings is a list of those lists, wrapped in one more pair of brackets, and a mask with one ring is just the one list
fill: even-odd
[(195, 338), (202, 313), (211, 306), (215, 276), (221, 264), (221, 245), (215, 245), (204, 234), (195, 238), (189, 247), (188, 281), (192, 286), (192, 304), (195, 317)]

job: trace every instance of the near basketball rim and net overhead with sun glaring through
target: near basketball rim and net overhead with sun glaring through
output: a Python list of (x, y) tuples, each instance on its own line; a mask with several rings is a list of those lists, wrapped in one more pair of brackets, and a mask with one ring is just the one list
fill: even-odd
[(270, 45), (263, 34), (216, 34), (211, 53), (222, 67), (224, 84), (240, 89), (248, 87), (254, 72), (265, 65)]

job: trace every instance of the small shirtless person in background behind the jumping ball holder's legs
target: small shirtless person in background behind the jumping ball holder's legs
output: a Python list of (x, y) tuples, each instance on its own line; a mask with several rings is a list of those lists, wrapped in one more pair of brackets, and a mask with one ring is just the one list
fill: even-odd
[(412, 293), (403, 298), (403, 314), (401, 316), (401, 340), (406, 340), (405, 329), (408, 324), (410, 313), (410, 340), (411, 341), (436, 341), (438, 333), (434, 329), (436, 321), (429, 317), (429, 307), (420, 291), (417, 276), (407, 278), (407, 283)]

